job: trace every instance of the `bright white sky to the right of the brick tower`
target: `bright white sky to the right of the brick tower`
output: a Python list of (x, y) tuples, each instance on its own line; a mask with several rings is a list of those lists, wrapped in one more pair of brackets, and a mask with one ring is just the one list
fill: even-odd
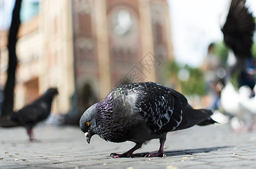
[[(180, 64), (200, 66), (211, 42), (222, 41), (220, 15), (227, 0), (167, 0), (170, 6), (173, 50)], [(256, 16), (256, 1), (246, 5)]]

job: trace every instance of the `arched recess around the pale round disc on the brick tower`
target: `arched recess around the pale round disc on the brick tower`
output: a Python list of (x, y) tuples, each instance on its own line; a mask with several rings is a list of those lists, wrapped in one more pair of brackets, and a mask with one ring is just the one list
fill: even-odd
[(126, 60), (129, 60), (128, 57), (135, 56), (140, 45), (140, 29), (138, 16), (132, 8), (116, 6), (111, 9), (108, 15), (108, 33), (113, 58), (125, 60), (127, 57)]

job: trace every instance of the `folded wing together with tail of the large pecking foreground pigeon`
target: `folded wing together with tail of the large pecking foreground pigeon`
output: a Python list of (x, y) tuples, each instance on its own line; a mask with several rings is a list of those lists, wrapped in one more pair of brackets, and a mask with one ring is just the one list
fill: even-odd
[[(137, 92), (135, 105), (147, 127), (157, 135), (192, 127), (205, 121), (211, 110), (195, 110), (179, 92), (153, 82), (128, 84)], [(213, 122), (212, 122), (213, 123)]]

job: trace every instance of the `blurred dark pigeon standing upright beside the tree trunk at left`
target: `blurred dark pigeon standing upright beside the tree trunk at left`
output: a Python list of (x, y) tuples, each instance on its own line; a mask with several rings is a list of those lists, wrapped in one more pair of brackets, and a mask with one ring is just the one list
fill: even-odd
[(41, 121), (44, 121), (50, 114), (51, 103), (54, 96), (58, 94), (57, 88), (49, 88), (39, 99), (32, 104), (24, 106), (18, 112), (10, 114), (10, 121), (27, 128), (29, 140), (34, 140), (32, 128)]

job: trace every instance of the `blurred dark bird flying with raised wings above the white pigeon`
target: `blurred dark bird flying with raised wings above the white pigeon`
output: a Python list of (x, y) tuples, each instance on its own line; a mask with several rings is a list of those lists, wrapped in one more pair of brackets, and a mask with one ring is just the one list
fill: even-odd
[(225, 83), (233, 73), (240, 73), (246, 69), (246, 60), (251, 60), (251, 47), (253, 46), (253, 34), (255, 21), (252, 12), (245, 7), (245, 0), (232, 0), (222, 15), (222, 32), (225, 44), (231, 48), (227, 59), (227, 73)]

